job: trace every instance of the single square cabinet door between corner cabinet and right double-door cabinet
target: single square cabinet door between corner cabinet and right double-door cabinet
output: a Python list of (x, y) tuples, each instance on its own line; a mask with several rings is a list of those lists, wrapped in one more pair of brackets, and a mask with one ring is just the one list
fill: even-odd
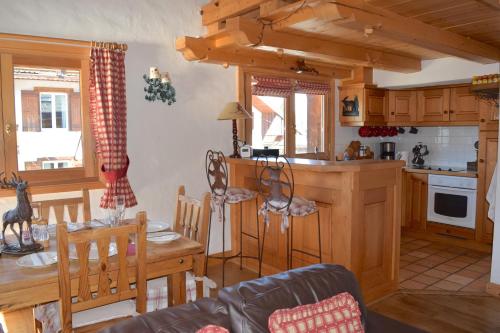
[(389, 123), (407, 124), (417, 121), (416, 90), (390, 90), (388, 96)]

